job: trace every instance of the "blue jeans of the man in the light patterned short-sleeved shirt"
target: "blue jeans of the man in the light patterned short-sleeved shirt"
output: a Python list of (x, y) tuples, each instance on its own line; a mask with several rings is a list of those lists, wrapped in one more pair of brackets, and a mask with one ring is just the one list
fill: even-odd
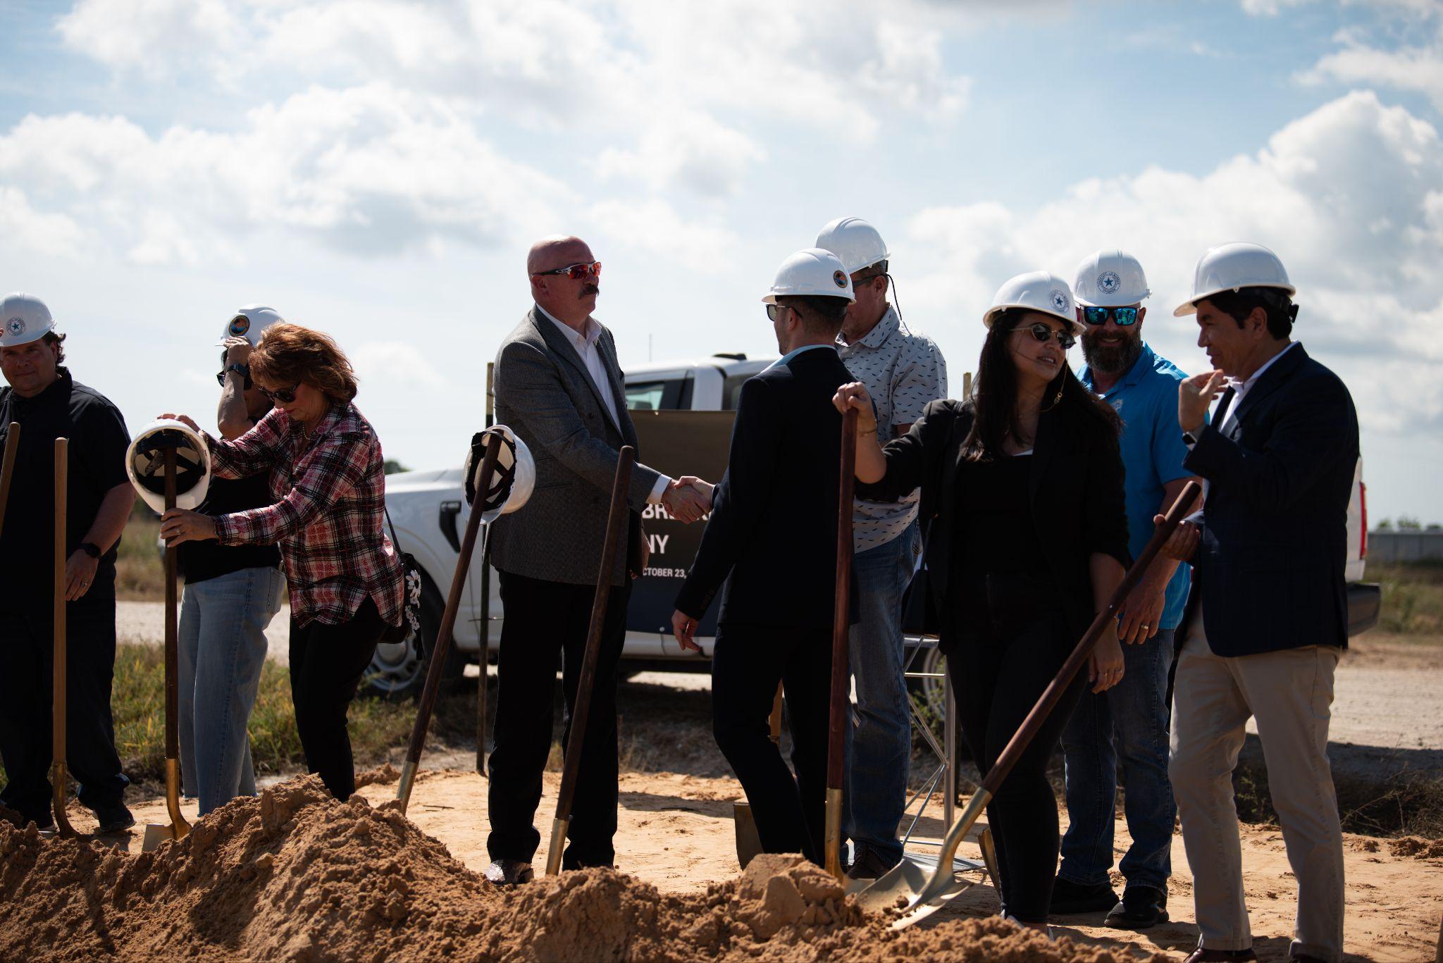
[(851, 627), (848, 647), (857, 705), (847, 726), (846, 832), (859, 850), (870, 849), (889, 863), (902, 859), (898, 823), (906, 809), (912, 758), (902, 593), (912, 580), (919, 541), (913, 521), (892, 541), (851, 559), (861, 621)]

